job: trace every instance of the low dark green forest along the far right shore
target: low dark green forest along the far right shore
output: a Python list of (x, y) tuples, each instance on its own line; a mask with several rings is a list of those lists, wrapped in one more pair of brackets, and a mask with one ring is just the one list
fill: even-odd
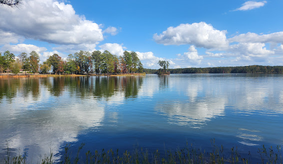
[[(147, 74), (157, 74), (159, 69), (143, 69)], [(226, 66), (207, 68), (168, 69), (170, 73), (283, 73), (283, 66)]]

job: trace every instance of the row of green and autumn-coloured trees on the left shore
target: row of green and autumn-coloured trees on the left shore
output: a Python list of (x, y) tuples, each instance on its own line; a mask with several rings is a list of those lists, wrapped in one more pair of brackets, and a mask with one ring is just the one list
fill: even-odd
[(8, 50), (0, 53), (0, 73), (9, 70), (12, 73), (19, 73), (20, 69), (25, 73), (54, 73), (54, 74), (116, 74), (116, 73), (136, 73), (143, 72), (143, 65), (134, 51), (124, 51), (123, 56), (111, 54), (105, 50), (89, 51), (80, 50), (74, 54), (69, 54), (63, 59), (54, 53), (39, 63), (39, 55), (31, 51), (29, 55), (22, 52), (17, 57)]

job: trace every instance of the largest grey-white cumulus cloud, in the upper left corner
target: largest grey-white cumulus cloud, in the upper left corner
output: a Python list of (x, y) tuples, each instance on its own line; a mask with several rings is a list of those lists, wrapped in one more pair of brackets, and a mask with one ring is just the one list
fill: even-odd
[(72, 5), (55, 0), (23, 0), (18, 10), (0, 10), (0, 28), (25, 38), (56, 44), (94, 43), (103, 40), (102, 29)]

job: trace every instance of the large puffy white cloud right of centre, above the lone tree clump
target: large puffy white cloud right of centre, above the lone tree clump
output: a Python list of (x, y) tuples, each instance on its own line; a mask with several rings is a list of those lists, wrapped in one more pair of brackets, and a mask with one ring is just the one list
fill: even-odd
[(194, 44), (197, 47), (226, 47), (226, 30), (215, 29), (206, 22), (180, 24), (168, 27), (161, 34), (155, 33), (153, 38), (157, 43), (165, 45)]

